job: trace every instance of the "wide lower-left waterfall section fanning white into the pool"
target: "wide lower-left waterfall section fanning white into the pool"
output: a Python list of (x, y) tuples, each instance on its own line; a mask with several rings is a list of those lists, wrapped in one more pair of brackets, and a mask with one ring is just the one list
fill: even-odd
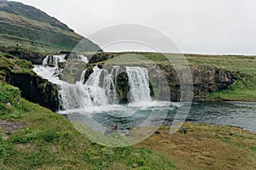
[[(59, 89), (61, 107), (64, 110), (80, 109), (91, 106), (116, 104), (118, 97), (113, 83), (113, 76), (107, 70), (93, 68), (93, 73), (84, 82), (83, 71), (81, 80), (76, 84), (62, 83)], [(101, 77), (103, 79), (101, 80)]]

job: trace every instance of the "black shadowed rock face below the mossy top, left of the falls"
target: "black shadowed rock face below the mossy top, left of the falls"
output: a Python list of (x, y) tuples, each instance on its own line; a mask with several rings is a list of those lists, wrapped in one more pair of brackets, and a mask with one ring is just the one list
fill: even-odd
[(57, 87), (37, 75), (10, 72), (6, 82), (20, 88), (21, 96), (33, 103), (49, 108), (59, 109)]

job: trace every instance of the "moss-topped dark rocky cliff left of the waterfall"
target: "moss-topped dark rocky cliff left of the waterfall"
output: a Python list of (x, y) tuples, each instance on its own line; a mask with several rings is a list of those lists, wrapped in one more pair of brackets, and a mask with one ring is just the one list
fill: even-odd
[(20, 88), (21, 97), (49, 108), (59, 109), (57, 87), (32, 71), (32, 63), (0, 53), (0, 81)]

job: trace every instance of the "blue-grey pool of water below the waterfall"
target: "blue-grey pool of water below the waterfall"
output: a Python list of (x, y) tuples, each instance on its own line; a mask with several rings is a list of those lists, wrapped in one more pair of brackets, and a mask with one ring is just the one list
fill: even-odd
[[(120, 131), (127, 131), (132, 127), (170, 125), (180, 107), (183, 107), (182, 103), (154, 102), (84, 108), (77, 111), (64, 111), (61, 114), (67, 114), (72, 122), (84, 122), (93, 128), (116, 124)], [(194, 103), (186, 117), (186, 122), (231, 125), (256, 133), (256, 103)]]

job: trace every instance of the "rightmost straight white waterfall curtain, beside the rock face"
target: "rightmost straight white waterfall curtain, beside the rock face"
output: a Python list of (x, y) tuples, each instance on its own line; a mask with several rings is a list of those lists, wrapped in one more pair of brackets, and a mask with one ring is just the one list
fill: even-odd
[(126, 72), (129, 77), (131, 102), (152, 101), (148, 69), (143, 67), (126, 67)]

